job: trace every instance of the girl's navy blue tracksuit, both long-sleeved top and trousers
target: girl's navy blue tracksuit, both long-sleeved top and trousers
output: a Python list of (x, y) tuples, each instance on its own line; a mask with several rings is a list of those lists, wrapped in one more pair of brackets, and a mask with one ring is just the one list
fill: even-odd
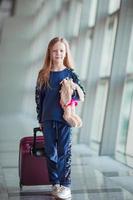
[[(50, 87), (36, 85), (35, 100), (37, 104), (37, 119), (43, 124), (45, 149), (48, 161), (49, 178), (52, 184), (59, 183), (69, 186), (71, 183), (71, 127), (63, 119), (63, 109), (60, 105), (60, 82), (64, 78), (72, 78), (82, 90), (79, 78), (69, 68), (62, 71), (51, 71)], [(78, 99), (75, 91), (73, 97)]]

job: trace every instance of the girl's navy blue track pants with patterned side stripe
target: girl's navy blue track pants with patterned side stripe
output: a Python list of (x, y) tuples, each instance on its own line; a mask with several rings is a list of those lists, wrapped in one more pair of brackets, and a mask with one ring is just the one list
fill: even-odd
[(71, 127), (59, 121), (46, 120), (43, 126), (50, 182), (71, 184)]

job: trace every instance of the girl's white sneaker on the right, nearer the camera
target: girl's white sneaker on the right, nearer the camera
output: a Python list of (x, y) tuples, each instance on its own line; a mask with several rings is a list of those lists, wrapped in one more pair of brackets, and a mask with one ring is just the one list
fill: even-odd
[(71, 198), (71, 190), (69, 187), (61, 186), (57, 192), (57, 197), (60, 199)]

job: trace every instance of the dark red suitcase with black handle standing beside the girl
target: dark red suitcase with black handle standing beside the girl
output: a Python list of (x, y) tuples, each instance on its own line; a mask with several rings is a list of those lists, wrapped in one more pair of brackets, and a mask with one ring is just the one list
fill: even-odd
[(34, 128), (34, 136), (24, 137), (19, 146), (20, 189), (28, 185), (49, 185), (47, 161), (44, 150), (44, 137), (36, 136), (41, 131)]

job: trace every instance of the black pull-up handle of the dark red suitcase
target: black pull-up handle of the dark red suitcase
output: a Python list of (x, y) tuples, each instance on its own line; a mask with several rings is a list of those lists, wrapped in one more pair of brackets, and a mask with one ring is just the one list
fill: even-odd
[(33, 137), (33, 148), (32, 148), (32, 153), (35, 156), (43, 156), (45, 154), (44, 148), (38, 149), (36, 147), (36, 137), (37, 137), (37, 132), (42, 132), (40, 127), (36, 127), (33, 129), (34, 137)]

